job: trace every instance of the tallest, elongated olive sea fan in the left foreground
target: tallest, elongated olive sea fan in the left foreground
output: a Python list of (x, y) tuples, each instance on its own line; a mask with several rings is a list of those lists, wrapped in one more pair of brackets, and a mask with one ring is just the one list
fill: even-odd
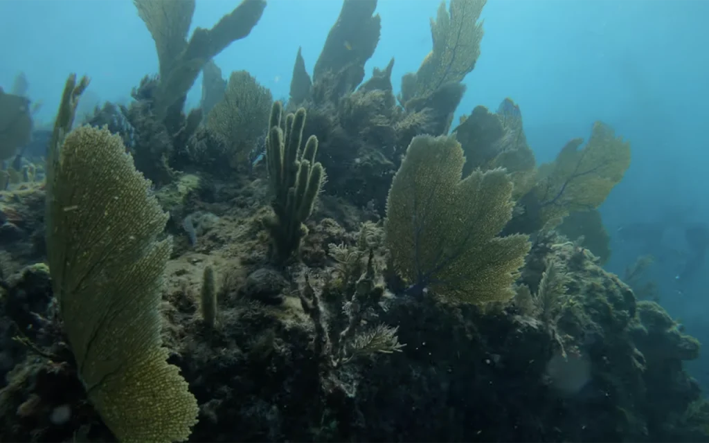
[(86, 396), (118, 441), (185, 441), (199, 408), (160, 337), (168, 214), (120, 137), (89, 126), (65, 136), (88, 83), (67, 80), (48, 152), (52, 289)]

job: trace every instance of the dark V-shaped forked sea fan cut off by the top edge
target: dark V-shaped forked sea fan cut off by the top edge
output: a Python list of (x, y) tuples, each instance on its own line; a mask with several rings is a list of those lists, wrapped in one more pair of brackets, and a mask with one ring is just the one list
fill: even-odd
[(138, 15), (150, 30), (160, 61), (160, 84), (155, 113), (162, 119), (168, 108), (182, 101), (206, 63), (235, 40), (245, 38), (261, 18), (264, 0), (243, 0), (211, 29), (196, 28), (186, 35), (194, 13), (194, 0), (133, 0)]

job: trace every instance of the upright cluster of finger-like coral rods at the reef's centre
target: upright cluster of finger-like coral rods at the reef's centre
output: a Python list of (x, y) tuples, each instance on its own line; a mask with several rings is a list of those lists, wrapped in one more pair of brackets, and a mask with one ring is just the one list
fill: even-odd
[(289, 259), (300, 249), (301, 239), (308, 235), (308, 228), (303, 222), (313, 212), (325, 177), (323, 165), (315, 161), (318, 152), (318, 138), (315, 135), (308, 138), (301, 152), (306, 110), (298, 109), (285, 119), (282, 116), (283, 105), (277, 101), (273, 104), (266, 139), (266, 162), (274, 211), (274, 217), (266, 224), (271, 235), (273, 257), (277, 262)]

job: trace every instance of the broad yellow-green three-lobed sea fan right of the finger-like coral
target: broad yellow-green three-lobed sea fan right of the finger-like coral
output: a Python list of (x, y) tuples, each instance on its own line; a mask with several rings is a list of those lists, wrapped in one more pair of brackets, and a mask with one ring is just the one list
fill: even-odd
[(413, 286), (449, 301), (506, 300), (530, 245), (526, 235), (496, 237), (510, 220), (512, 182), (502, 169), (460, 180), (463, 150), (454, 138), (418, 136), (389, 191), (386, 242)]

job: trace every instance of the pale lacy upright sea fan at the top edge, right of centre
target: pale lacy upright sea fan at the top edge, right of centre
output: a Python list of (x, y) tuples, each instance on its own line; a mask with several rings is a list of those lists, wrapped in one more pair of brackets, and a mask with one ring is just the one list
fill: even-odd
[(479, 18), (485, 4), (486, 0), (451, 0), (446, 11), (445, 1), (441, 2), (435, 21), (431, 19), (433, 49), (418, 72), (402, 80), (404, 103), (428, 96), (444, 84), (462, 82), (474, 69), (484, 34)]

